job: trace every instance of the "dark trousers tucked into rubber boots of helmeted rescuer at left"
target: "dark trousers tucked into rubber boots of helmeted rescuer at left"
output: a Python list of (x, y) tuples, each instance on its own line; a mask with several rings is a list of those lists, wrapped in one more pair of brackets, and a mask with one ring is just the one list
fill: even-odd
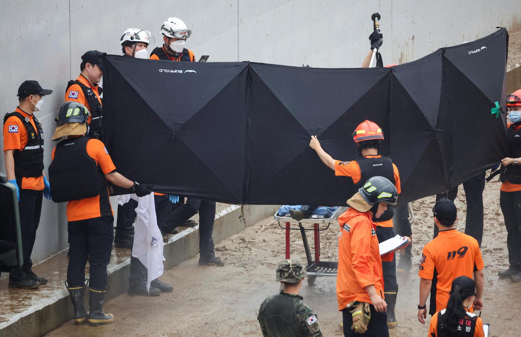
[(69, 287), (80, 287), (85, 280), (85, 264), (89, 257), (90, 288), (107, 289), (107, 266), (114, 241), (114, 217), (102, 216), (69, 221)]

